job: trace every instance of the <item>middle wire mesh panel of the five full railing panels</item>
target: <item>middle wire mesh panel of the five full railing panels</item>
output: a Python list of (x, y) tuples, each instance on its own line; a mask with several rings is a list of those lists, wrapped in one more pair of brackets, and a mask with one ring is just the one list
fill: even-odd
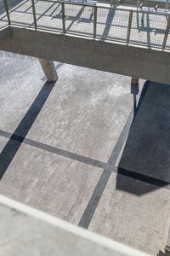
[(94, 35), (94, 7), (65, 3), (65, 32)]

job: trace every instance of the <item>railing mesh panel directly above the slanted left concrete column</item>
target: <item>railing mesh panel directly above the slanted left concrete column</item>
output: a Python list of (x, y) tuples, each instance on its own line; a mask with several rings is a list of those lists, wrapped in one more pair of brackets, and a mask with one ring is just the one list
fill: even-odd
[(62, 31), (61, 3), (39, 0), (35, 2), (37, 28)]

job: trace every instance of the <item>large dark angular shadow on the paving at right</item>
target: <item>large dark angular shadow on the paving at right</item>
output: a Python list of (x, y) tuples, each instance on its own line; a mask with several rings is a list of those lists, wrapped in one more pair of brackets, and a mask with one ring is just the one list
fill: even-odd
[(147, 82), (117, 167), (116, 189), (170, 188), (170, 86)]

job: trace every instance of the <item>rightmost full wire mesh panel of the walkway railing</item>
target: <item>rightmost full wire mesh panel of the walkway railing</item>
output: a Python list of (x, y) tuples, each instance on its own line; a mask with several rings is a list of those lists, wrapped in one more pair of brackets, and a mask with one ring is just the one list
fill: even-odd
[(165, 15), (133, 12), (130, 44), (161, 48), (166, 26)]

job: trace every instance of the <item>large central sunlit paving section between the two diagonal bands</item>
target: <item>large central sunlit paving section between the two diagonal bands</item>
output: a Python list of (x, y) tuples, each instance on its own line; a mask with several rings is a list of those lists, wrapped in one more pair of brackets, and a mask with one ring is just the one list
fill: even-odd
[(107, 161), (133, 108), (130, 78), (68, 65), (58, 75), (28, 138)]

